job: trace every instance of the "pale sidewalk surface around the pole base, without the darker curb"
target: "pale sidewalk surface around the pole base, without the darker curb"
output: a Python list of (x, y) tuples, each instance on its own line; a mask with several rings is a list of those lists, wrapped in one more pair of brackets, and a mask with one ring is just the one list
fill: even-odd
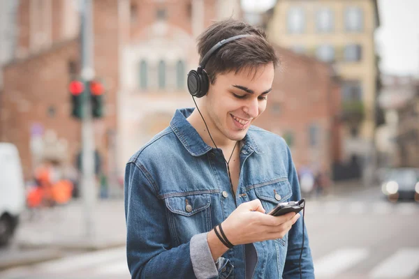
[(122, 199), (98, 200), (94, 206), (93, 236), (86, 236), (82, 200), (65, 206), (24, 213), (15, 235), (20, 248), (99, 250), (124, 246), (126, 225)]

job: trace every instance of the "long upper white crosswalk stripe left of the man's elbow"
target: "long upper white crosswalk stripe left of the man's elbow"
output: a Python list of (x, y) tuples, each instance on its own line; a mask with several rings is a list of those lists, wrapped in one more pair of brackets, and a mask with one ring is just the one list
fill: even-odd
[(97, 252), (89, 252), (82, 255), (73, 257), (65, 257), (63, 259), (57, 259), (45, 264), (38, 264), (36, 266), (37, 271), (42, 272), (64, 272), (84, 269), (89, 266), (101, 264), (103, 262), (110, 262), (114, 259), (121, 259), (125, 257), (126, 248), (114, 248), (110, 250), (103, 250)]

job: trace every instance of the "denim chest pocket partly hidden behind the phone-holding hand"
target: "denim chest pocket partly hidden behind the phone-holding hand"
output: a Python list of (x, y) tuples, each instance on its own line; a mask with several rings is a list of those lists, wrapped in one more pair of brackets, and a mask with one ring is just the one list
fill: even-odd
[[(291, 184), (286, 178), (260, 183), (253, 186), (253, 190), (255, 191), (256, 197), (262, 202), (266, 213), (272, 211), (277, 204), (288, 202), (288, 199), (292, 195)], [(287, 240), (288, 234), (282, 239), (275, 239), (275, 241), (279, 241), (284, 246), (286, 246)]]

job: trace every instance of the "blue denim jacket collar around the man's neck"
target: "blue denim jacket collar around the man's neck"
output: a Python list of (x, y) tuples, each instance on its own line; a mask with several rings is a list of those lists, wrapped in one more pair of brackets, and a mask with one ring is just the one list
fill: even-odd
[[(182, 142), (185, 149), (192, 156), (202, 156), (208, 151), (212, 150), (212, 147), (203, 141), (202, 137), (200, 137), (191, 123), (186, 120), (186, 118), (192, 114), (193, 110), (193, 107), (176, 110), (172, 121), (170, 121), (170, 128), (172, 128), (177, 138), (180, 140), (180, 142)], [(249, 148), (256, 153), (263, 153), (263, 151), (260, 150), (258, 144), (251, 136), (251, 133), (251, 128), (249, 128), (246, 136), (242, 140), (243, 144), (249, 146)]]

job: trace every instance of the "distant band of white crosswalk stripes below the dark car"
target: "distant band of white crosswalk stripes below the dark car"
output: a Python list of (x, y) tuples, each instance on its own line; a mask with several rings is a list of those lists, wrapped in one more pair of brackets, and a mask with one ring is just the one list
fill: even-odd
[(387, 215), (395, 214), (401, 216), (409, 216), (419, 214), (419, 202), (406, 202), (392, 204), (385, 200), (367, 202), (367, 201), (307, 201), (306, 214), (348, 214), (348, 215)]

